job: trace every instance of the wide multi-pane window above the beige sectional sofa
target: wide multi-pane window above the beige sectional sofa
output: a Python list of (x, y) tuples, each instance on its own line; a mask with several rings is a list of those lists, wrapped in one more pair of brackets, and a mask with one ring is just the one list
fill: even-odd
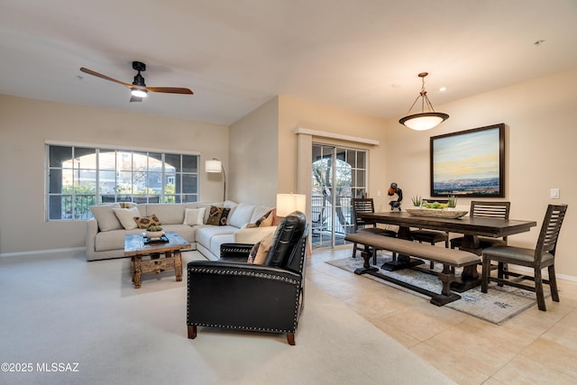
[(92, 217), (108, 202), (198, 200), (198, 155), (47, 144), (48, 220)]

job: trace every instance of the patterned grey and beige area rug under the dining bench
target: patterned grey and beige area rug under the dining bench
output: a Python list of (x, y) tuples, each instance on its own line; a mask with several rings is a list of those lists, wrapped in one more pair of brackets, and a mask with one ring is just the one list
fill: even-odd
[[(388, 252), (382, 252), (377, 255), (377, 264), (373, 266), (380, 267), (385, 261), (391, 261), (392, 256)], [(335, 267), (343, 270), (351, 271), (362, 268), (362, 258), (358, 256), (357, 258), (344, 258), (342, 260), (336, 261), (326, 261)], [(371, 259), (372, 262), (372, 259)], [(428, 261), (425, 262), (428, 265)], [(435, 264), (436, 270), (441, 270), (442, 266), (440, 264)], [(417, 270), (397, 270), (388, 271), (380, 269), (380, 274), (387, 275), (396, 280), (401, 280), (420, 288), (433, 291), (435, 293), (441, 293), (441, 282), (433, 274), (427, 274), (425, 272)], [(457, 270), (459, 272), (459, 270)], [(370, 274), (362, 274), (362, 277), (366, 277), (371, 280), (376, 280), (385, 285), (401, 289), (417, 297), (427, 298), (426, 296), (417, 293), (411, 289), (406, 289), (401, 286), (395, 285), (386, 280), (380, 280), (378, 277), (373, 277)], [(513, 316), (517, 316), (523, 311), (527, 310), (529, 307), (534, 307), (536, 305), (535, 293), (517, 289), (512, 287), (498, 287), (496, 283), (491, 282), (489, 286), (488, 293), (481, 293), (481, 287), (477, 287), (463, 293), (458, 293), (461, 299), (451, 302), (445, 307), (453, 308), (460, 312), (466, 313), (470, 316), (475, 316), (477, 318), (489, 321), (490, 323), (501, 325)], [(550, 293), (545, 291), (545, 296), (549, 296)]]

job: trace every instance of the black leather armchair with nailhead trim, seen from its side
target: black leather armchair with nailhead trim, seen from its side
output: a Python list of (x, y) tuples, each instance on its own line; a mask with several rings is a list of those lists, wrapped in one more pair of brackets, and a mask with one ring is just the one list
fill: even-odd
[(188, 338), (197, 326), (286, 333), (295, 344), (304, 306), (307, 219), (301, 212), (277, 227), (264, 265), (247, 263), (252, 244), (226, 243), (218, 261), (188, 262)]

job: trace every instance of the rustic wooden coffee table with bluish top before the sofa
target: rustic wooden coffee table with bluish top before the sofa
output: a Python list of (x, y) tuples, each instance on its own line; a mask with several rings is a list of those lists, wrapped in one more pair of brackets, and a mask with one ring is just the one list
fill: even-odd
[(141, 287), (143, 273), (174, 270), (177, 281), (182, 280), (182, 255), (180, 251), (190, 247), (179, 234), (168, 232), (166, 243), (144, 243), (143, 234), (124, 237), (124, 256), (131, 257), (134, 288)]

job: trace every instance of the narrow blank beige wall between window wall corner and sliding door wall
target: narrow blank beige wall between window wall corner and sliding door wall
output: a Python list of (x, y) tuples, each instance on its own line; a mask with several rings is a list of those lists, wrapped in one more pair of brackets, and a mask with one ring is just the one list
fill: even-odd
[[(279, 99), (272, 98), (230, 129), (229, 195), (235, 202), (275, 206), (278, 189)], [(281, 174), (280, 174), (281, 175)]]

